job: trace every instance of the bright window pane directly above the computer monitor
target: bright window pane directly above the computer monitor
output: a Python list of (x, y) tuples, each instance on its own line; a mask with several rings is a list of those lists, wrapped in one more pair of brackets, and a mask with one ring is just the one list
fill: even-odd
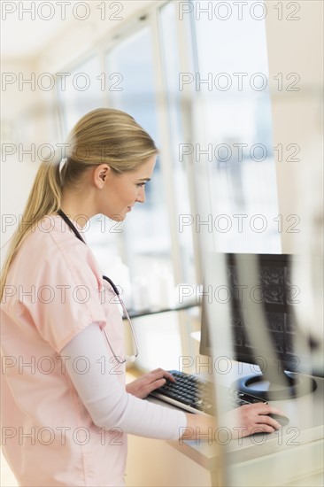
[[(200, 2), (208, 12), (208, 2)], [(194, 164), (208, 174), (218, 251), (280, 252), (265, 20), (192, 13)], [(196, 105), (196, 106), (195, 106)], [(211, 221), (209, 221), (211, 220)], [(202, 232), (207, 228), (201, 227)]]

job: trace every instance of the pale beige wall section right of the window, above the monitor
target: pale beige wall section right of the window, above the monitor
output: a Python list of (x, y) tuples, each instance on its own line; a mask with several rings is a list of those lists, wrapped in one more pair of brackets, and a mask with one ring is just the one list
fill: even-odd
[[(322, 89), (323, 89), (323, 3), (301, 1), (283, 5), (282, 20), (274, 2), (266, 2), (266, 31), (270, 79), (274, 147), (282, 144), (282, 161), (276, 158), (280, 213), (283, 217), (282, 252), (297, 251), (309, 232), (307, 212), (310, 200), (322, 208)], [(297, 7), (298, 12), (295, 12)], [(299, 18), (296, 20), (290, 17)], [(282, 90), (274, 76), (282, 73)], [(295, 86), (289, 84), (300, 78)], [(289, 79), (287, 79), (291, 76)], [(289, 89), (297, 88), (298, 91)], [(295, 144), (289, 151), (285, 148)], [(300, 149), (299, 149), (300, 148)], [(314, 149), (316, 148), (316, 150)], [(287, 160), (297, 149), (297, 162)], [(275, 152), (278, 155), (278, 151)], [(287, 231), (297, 215), (297, 233)], [(291, 228), (293, 229), (293, 228)], [(311, 237), (308, 235), (308, 238)]]

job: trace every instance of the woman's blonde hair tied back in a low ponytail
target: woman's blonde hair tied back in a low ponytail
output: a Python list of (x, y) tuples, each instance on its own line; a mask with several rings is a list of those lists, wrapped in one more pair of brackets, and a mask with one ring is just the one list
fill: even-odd
[(84, 115), (73, 127), (64, 147), (64, 154), (60, 153), (51, 162), (43, 160), (38, 169), (4, 262), (0, 299), (20, 245), (38, 221), (58, 212), (62, 189), (75, 186), (91, 167), (106, 163), (121, 174), (135, 170), (158, 153), (150, 135), (133, 117), (112, 108), (98, 108)]

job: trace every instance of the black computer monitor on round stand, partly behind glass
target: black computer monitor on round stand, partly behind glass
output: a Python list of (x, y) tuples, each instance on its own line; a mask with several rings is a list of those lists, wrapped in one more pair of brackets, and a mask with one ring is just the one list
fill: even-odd
[[(227, 253), (212, 254), (210, 259), (223, 264), (209, 261), (200, 353), (215, 358), (229, 327), (231, 359), (256, 364), (261, 370), (260, 375), (241, 378), (237, 390), (267, 400), (315, 390), (316, 381), (309, 374), (314, 344), (297, 324), (297, 305), (303, 299), (303, 287), (293, 282), (291, 272), (297, 257)], [(217, 274), (221, 277), (215, 278)]]

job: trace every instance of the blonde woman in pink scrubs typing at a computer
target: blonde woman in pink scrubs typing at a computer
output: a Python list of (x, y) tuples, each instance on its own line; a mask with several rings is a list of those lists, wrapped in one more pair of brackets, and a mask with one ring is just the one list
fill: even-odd
[[(143, 203), (157, 152), (127, 113), (97, 109), (73, 128), (63, 160), (38, 170), (1, 288), (3, 448), (19, 485), (123, 485), (127, 433), (177, 440), (212, 426), (142, 400), (174, 380), (162, 369), (125, 387), (120, 312), (73, 228), (80, 214), (120, 221)], [(242, 411), (243, 435), (279, 427), (269, 406)]]

